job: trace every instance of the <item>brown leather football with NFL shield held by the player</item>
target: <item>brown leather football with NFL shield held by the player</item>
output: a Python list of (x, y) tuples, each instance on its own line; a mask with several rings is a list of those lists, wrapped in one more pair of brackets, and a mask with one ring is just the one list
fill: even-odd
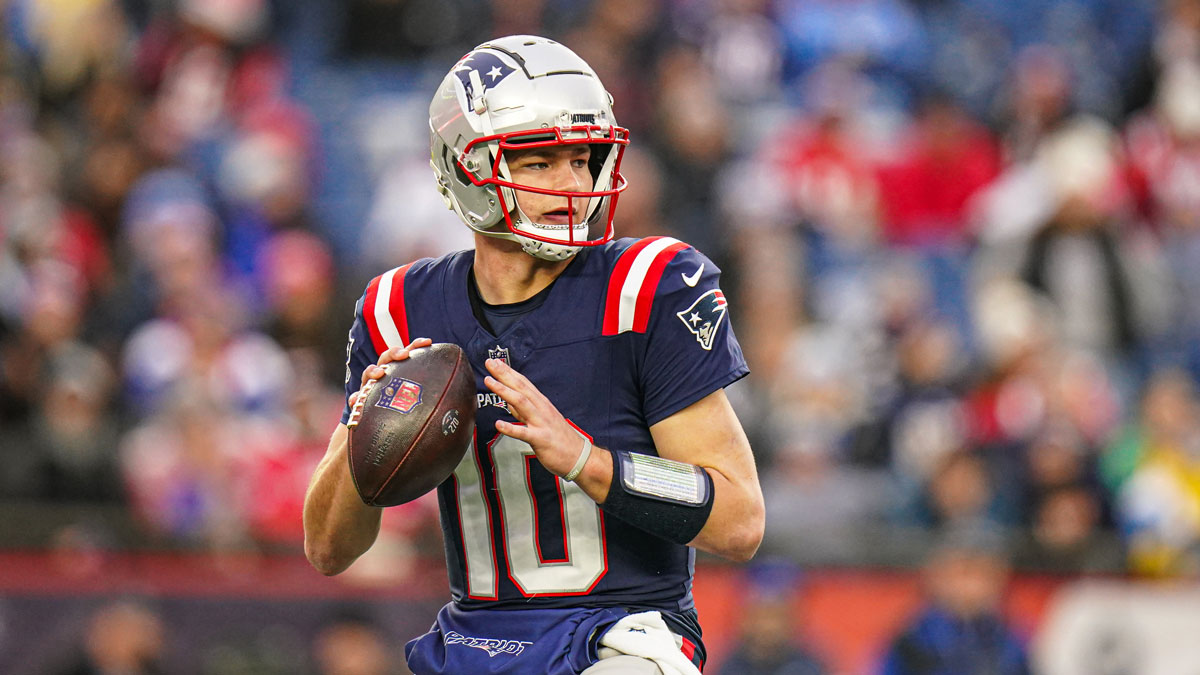
[(371, 506), (402, 504), (445, 480), (475, 428), (475, 376), (457, 345), (414, 350), (355, 401), (350, 476)]

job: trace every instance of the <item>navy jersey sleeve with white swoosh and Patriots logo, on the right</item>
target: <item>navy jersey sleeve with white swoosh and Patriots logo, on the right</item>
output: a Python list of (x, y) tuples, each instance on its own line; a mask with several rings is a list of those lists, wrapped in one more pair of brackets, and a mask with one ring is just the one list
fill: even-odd
[(653, 425), (745, 377), (721, 270), (686, 246), (662, 269), (646, 330), (643, 413)]

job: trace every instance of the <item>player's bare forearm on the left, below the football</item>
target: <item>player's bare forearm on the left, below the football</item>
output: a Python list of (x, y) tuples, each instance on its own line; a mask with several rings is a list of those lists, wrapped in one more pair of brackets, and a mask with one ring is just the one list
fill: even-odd
[(383, 509), (362, 503), (347, 459), (348, 434), (338, 425), (305, 495), (305, 555), (322, 574), (338, 574), (379, 534)]

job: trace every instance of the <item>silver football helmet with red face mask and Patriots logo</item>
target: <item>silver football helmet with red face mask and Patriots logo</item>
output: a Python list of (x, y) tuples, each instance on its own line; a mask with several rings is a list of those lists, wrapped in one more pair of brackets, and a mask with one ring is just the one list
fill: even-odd
[[(590, 191), (512, 181), (505, 150), (571, 144), (592, 149)], [(545, 37), (516, 35), (475, 47), (450, 68), (430, 103), (430, 163), (446, 207), (472, 229), (517, 241), (542, 259), (566, 259), (581, 246), (612, 239), (628, 144), (629, 131), (617, 126), (600, 78)], [(517, 205), (516, 190), (566, 197), (568, 222), (534, 222)]]

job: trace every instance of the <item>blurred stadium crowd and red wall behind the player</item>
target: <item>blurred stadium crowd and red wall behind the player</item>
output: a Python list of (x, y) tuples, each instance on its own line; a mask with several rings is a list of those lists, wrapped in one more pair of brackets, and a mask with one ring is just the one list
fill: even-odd
[(469, 244), (428, 97), (516, 32), (613, 92), (618, 234), (725, 270), (768, 532), (708, 671), (881, 671), (956, 578), (1040, 671), (1200, 664), (1200, 1), (0, 7), (0, 671), (402, 669), (436, 507), (325, 579), (300, 504), (364, 283)]

